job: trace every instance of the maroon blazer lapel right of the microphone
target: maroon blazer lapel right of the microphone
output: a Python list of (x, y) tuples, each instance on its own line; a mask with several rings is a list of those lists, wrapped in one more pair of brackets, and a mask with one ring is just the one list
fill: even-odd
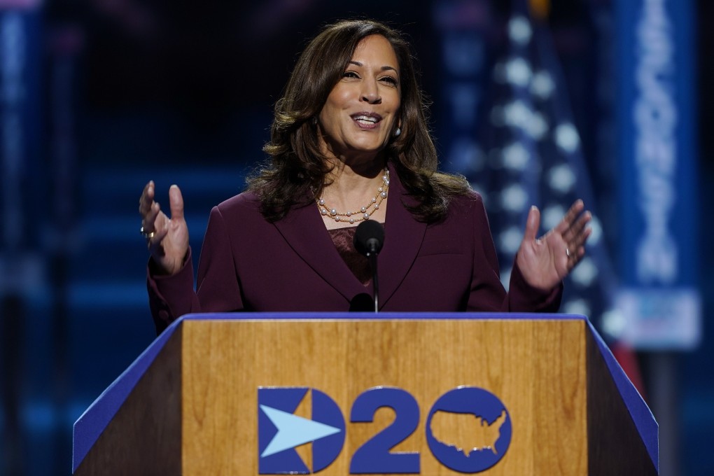
[(384, 247), (378, 258), (379, 307), (382, 308), (401, 285), (416, 260), (426, 233), (426, 223), (416, 218), (405, 205), (418, 202), (408, 196), (394, 168), (389, 166), (389, 201)]

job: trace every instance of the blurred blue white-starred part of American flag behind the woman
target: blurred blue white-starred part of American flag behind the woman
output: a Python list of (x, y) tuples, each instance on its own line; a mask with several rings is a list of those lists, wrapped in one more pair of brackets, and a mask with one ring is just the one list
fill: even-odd
[(449, 166), (483, 195), (506, 286), (531, 205), (540, 208), (545, 233), (583, 199), (593, 212), (593, 233), (585, 258), (565, 279), (560, 310), (598, 323), (613, 308), (616, 278), (558, 58), (526, 0), (513, 2), (507, 30), (508, 47), (493, 68), (480, 121), (481, 150)]

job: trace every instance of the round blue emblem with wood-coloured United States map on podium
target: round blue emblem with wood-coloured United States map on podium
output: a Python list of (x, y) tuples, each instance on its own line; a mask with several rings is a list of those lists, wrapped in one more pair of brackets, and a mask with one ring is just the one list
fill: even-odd
[(488, 390), (455, 388), (431, 407), (426, 442), (436, 459), (452, 470), (485, 471), (496, 465), (511, 445), (511, 416)]

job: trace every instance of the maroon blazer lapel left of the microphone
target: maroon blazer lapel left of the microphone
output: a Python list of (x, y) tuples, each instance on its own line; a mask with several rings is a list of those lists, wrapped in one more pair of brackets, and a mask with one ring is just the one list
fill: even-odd
[(293, 208), (275, 226), (295, 253), (347, 300), (365, 292), (335, 248), (317, 206)]

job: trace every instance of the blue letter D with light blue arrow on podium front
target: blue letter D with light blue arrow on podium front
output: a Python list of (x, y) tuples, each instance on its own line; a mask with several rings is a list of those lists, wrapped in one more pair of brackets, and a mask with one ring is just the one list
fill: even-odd
[[(310, 393), (311, 418), (295, 415)], [(307, 475), (330, 465), (342, 450), (345, 420), (325, 393), (307, 387), (258, 388), (258, 472)], [(312, 470), (296, 447), (312, 443)]]

